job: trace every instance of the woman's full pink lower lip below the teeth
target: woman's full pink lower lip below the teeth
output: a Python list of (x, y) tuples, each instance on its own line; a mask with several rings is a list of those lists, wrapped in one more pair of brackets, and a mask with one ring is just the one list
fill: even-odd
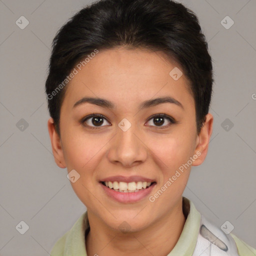
[(106, 187), (101, 182), (99, 182), (102, 188), (104, 189), (105, 193), (115, 199), (118, 202), (124, 202), (124, 203), (131, 203), (131, 202), (137, 202), (141, 200), (142, 198), (145, 198), (153, 189), (156, 183), (150, 185), (147, 188), (144, 188), (137, 192), (118, 192), (115, 191), (109, 187)]

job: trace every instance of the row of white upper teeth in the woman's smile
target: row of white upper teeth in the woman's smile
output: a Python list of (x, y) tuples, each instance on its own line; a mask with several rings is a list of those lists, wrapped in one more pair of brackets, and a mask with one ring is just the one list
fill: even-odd
[(117, 182), (117, 181), (105, 181), (104, 184), (109, 187), (116, 190), (129, 190), (129, 191), (135, 191), (137, 189), (146, 188), (147, 186), (151, 185), (151, 182), (146, 181), (138, 181), (138, 182)]

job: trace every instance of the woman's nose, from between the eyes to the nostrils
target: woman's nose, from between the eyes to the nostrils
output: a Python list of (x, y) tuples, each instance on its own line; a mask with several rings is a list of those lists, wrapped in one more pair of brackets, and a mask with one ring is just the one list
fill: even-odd
[(141, 164), (147, 157), (148, 148), (135, 125), (123, 131), (117, 127), (115, 136), (110, 141), (108, 160), (124, 167)]

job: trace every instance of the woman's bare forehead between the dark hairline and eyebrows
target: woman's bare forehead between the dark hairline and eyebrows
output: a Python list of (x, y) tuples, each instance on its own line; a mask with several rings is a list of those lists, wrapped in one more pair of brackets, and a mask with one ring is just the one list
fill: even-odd
[[(99, 50), (76, 70), (66, 85), (63, 105), (68, 108), (84, 96), (105, 98), (129, 109), (153, 97), (193, 101), (189, 80), (181, 75), (182, 67), (160, 51), (123, 47)], [(172, 70), (181, 76), (173, 79)]]

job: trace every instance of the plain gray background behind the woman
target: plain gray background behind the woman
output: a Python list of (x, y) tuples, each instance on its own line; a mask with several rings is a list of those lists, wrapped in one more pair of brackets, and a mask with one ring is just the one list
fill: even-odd
[[(215, 79), (208, 155), (192, 168), (184, 195), (210, 221), (220, 227), (228, 220), (234, 234), (256, 247), (256, 1), (180, 2), (198, 15)], [(54, 162), (44, 82), (55, 33), (87, 3), (0, 0), (1, 256), (49, 255), (86, 209), (66, 168)], [(15, 23), (21, 15), (29, 21), (24, 29)], [(234, 21), (229, 29), (220, 23), (226, 15)], [(28, 124), (23, 130), (21, 118)], [(23, 235), (15, 228), (21, 220), (29, 226)]]

